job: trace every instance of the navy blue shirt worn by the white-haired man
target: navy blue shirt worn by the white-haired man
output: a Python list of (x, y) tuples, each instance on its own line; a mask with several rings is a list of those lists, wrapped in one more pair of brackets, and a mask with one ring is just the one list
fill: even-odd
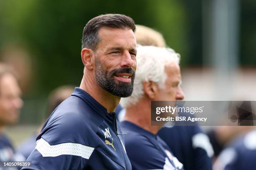
[(166, 143), (158, 135), (128, 122), (120, 122), (125, 148), (133, 170), (183, 170)]

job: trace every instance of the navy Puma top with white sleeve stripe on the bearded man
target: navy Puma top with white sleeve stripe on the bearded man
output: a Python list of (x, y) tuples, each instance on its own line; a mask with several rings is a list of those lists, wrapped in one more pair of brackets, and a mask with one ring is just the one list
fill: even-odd
[(76, 87), (51, 113), (23, 170), (131, 170), (115, 112)]

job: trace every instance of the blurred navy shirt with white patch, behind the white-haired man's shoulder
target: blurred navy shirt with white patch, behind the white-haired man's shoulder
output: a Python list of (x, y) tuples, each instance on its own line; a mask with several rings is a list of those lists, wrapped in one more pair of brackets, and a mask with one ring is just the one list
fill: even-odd
[(185, 170), (212, 170), (214, 152), (200, 126), (163, 127), (158, 135), (184, 165)]

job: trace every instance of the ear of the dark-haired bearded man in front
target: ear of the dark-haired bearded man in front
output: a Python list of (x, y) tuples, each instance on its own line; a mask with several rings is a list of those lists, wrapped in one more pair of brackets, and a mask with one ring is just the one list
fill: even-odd
[(81, 51), (82, 62), (84, 67), (89, 70), (93, 69), (94, 52), (90, 48), (83, 48)]

